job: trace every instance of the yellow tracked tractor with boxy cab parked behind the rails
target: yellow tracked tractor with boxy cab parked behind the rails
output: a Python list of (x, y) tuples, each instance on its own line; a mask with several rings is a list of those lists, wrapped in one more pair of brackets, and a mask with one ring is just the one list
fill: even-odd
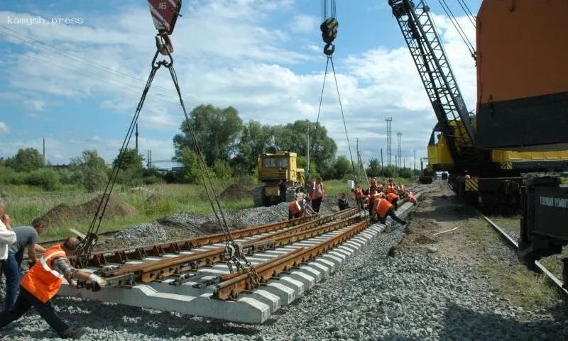
[(307, 194), (304, 169), (297, 168), (296, 158), (295, 152), (258, 156), (258, 181), (263, 182), (263, 186), (253, 190), (255, 207), (295, 201), (298, 192)]

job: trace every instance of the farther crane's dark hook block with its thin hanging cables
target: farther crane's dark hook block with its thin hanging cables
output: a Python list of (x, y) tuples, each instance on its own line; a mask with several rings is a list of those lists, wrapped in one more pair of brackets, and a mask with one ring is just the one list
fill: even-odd
[[(335, 6), (335, 0), (331, 0), (329, 6), (327, 4), (328, 0), (322, 0), (322, 24), (320, 25), (320, 30), (322, 31), (322, 39), (326, 44), (324, 46), (324, 55), (327, 56), (327, 62), (325, 63), (324, 72), (324, 84), (322, 86), (322, 95), (320, 96), (320, 108), (317, 109), (317, 120), (315, 123), (314, 133), (317, 132), (317, 123), (320, 122), (320, 113), (322, 111), (322, 101), (324, 97), (325, 89), (325, 79), (327, 78), (327, 69), (329, 67), (329, 62), (332, 63), (333, 77), (335, 80), (335, 88), (337, 89), (337, 98), (339, 99), (339, 108), (342, 111), (343, 125), (345, 128), (345, 135), (347, 138), (347, 147), (349, 148), (349, 157), (351, 158), (351, 167), (353, 168), (353, 174), (355, 174), (355, 164), (353, 162), (353, 155), (351, 154), (351, 145), (349, 144), (349, 134), (347, 133), (347, 125), (345, 123), (345, 115), (343, 112), (342, 98), (339, 95), (339, 85), (337, 84), (337, 76), (335, 74), (335, 66), (333, 64), (333, 54), (335, 52), (335, 45), (333, 44), (335, 38), (337, 38), (337, 29), (339, 28), (339, 22), (337, 21), (337, 9)], [(329, 13), (328, 13), (329, 9)], [(315, 140), (315, 136), (314, 136)], [(310, 146), (312, 149), (312, 146)], [(309, 175), (308, 175), (309, 176)]]

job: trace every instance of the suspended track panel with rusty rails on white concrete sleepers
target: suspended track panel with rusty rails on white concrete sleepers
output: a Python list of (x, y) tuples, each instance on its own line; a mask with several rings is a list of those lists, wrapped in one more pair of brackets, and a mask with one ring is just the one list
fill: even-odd
[[(397, 214), (405, 215), (412, 209), (412, 203), (403, 203)], [(337, 227), (332, 227), (338, 222)], [(224, 243), (219, 242), (192, 250), (133, 259), (126, 264), (107, 262), (103, 267), (88, 265), (83, 268), (84, 271), (102, 270), (112, 285), (92, 291), (77, 289), (64, 281), (60, 295), (240, 323), (263, 323), (281, 306), (292, 303), (336, 272), (361, 247), (386, 229), (386, 225), (380, 223), (371, 225), (366, 217), (362, 220), (340, 217), (335, 221), (326, 220), (321, 225), (310, 223), (307, 221), (237, 240), (253, 252), (247, 259), (260, 278), (257, 286), (251, 286), (247, 274), (230, 274), (221, 258), (197, 266), (183, 260), (180, 263), (180, 257), (187, 260), (202, 257), (204, 252), (219, 252), (224, 247)], [(388, 218), (386, 224), (391, 223)], [(254, 245), (265, 247), (254, 250)], [(170, 269), (170, 261), (177, 265)], [(160, 274), (160, 271), (163, 272)], [(126, 283), (126, 278), (131, 282)]]

